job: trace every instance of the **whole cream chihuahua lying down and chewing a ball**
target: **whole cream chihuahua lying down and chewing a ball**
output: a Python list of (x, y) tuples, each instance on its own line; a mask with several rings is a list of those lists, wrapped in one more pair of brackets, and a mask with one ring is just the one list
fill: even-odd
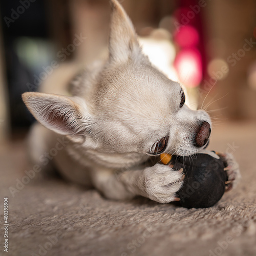
[[(36, 123), (34, 163), (56, 147), (55, 166), (69, 180), (93, 185), (111, 199), (141, 195), (178, 200), (182, 170), (156, 163), (161, 153), (188, 156), (207, 146), (211, 121), (184, 104), (180, 84), (141, 53), (134, 28), (112, 0), (109, 58), (71, 83), (72, 97), (25, 93)], [(62, 141), (62, 147), (56, 145)], [(148, 161), (153, 159), (152, 161)]]

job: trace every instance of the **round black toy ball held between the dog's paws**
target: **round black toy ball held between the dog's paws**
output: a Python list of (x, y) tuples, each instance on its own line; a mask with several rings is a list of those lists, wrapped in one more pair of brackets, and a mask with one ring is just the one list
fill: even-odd
[(177, 195), (180, 205), (186, 208), (206, 208), (215, 205), (223, 196), (228, 180), (227, 164), (214, 152), (189, 157), (173, 155), (169, 164), (183, 168), (183, 185)]

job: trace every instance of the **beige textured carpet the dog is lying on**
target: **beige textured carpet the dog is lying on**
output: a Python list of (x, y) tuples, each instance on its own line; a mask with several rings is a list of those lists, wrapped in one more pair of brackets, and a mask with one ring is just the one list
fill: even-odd
[(242, 181), (212, 208), (186, 209), (136, 198), (105, 200), (37, 174), (14, 197), (26, 170), (21, 141), (1, 146), (1, 223), (8, 197), (8, 253), (0, 255), (256, 255), (256, 125), (229, 123), (212, 131), (209, 148), (233, 152)]

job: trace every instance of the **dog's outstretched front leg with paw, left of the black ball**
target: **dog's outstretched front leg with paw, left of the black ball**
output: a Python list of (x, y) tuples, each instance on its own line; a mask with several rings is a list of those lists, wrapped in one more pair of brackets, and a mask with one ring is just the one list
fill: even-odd
[(144, 196), (159, 203), (178, 200), (184, 175), (182, 169), (156, 164), (144, 169), (113, 171), (97, 169), (92, 173), (94, 186), (110, 199), (129, 199)]

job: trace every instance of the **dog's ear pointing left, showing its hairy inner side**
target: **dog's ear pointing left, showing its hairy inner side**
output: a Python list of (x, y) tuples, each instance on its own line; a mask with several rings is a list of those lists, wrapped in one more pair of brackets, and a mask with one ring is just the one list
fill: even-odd
[(22, 98), (37, 121), (58, 134), (79, 136), (90, 130), (92, 118), (82, 99), (34, 92)]

